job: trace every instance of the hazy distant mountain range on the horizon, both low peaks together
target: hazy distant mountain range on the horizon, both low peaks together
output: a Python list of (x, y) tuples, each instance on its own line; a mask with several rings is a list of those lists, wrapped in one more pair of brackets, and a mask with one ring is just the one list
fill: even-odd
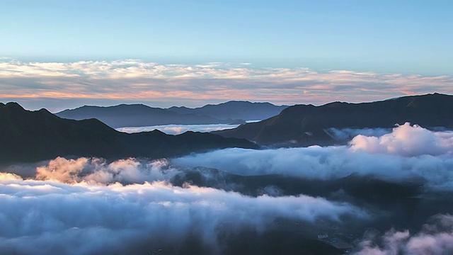
[(270, 118), (286, 107), (248, 101), (229, 101), (200, 108), (173, 106), (166, 109), (153, 108), (143, 104), (121, 104), (108, 107), (81, 106), (55, 113), (55, 115), (72, 120), (96, 118), (112, 128), (171, 124), (241, 124), (245, 123), (245, 120)]

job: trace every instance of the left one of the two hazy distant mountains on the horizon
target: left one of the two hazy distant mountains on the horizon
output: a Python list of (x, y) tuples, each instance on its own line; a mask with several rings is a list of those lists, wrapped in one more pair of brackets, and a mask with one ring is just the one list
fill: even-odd
[(191, 124), (229, 124), (244, 123), (243, 120), (219, 119), (207, 115), (176, 113), (162, 108), (153, 108), (142, 104), (118, 106), (81, 106), (64, 110), (55, 115), (72, 120), (96, 118), (112, 128), (144, 127), (152, 125), (191, 125)]

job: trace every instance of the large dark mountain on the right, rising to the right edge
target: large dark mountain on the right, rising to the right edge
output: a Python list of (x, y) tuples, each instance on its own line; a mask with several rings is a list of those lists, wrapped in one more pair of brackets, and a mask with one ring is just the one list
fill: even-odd
[(337, 141), (325, 131), (328, 128), (393, 128), (406, 122), (424, 128), (453, 128), (453, 96), (427, 94), (371, 103), (296, 105), (273, 118), (213, 133), (260, 145), (332, 145)]

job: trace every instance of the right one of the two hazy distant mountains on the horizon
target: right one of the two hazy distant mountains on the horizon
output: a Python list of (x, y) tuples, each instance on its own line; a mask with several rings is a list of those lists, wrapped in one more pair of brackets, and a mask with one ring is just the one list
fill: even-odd
[(275, 106), (272, 103), (251, 103), (248, 101), (228, 101), (217, 105), (208, 104), (200, 108), (167, 108), (181, 114), (207, 115), (213, 118), (231, 118), (242, 120), (264, 120), (279, 114), (288, 106)]

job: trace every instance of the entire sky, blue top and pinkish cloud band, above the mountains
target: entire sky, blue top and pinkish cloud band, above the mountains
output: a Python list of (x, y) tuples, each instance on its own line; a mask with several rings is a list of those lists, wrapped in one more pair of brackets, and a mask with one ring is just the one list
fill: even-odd
[(0, 4), (0, 101), (203, 106), (453, 89), (453, 1)]

